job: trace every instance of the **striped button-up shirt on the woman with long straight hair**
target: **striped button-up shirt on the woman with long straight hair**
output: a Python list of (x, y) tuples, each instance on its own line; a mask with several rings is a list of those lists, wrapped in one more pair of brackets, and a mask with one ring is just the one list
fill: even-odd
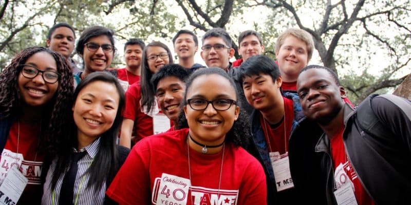
[[(76, 175), (76, 181), (74, 181), (74, 196), (73, 204), (103, 204), (106, 183), (104, 182), (102, 187), (95, 192), (94, 187), (87, 188), (87, 182), (90, 178), (90, 174), (87, 173), (87, 169), (90, 167), (92, 160), (97, 154), (100, 147), (100, 138), (96, 139), (90, 145), (82, 148), (80, 152), (87, 152), (87, 154), (81, 158), (78, 162), (78, 170)], [(77, 152), (74, 149), (74, 152)], [(51, 163), (50, 169), (47, 172), (46, 182), (43, 187), (42, 204), (59, 204), (59, 195), (61, 185), (63, 183), (64, 175), (61, 175), (57, 181), (57, 185), (54, 190), (51, 190), (52, 173), (54, 172), (57, 159), (54, 159)], [(67, 173), (68, 169), (66, 170)]]

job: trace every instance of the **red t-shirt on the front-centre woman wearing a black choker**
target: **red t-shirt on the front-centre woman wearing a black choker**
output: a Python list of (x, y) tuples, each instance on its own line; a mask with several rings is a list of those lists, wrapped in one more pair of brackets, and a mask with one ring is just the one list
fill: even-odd
[[(263, 167), (247, 151), (232, 143), (226, 143), (223, 161), (222, 151), (204, 155), (190, 148), (189, 170), (188, 132), (189, 129), (181, 129), (139, 141), (106, 194), (120, 204), (156, 204), (157, 196), (187, 200), (177, 204), (267, 204)], [(185, 183), (190, 182), (190, 173), (191, 187)], [(161, 180), (163, 174), (173, 177)], [(166, 182), (190, 191), (181, 194), (183, 191), (171, 189), (172, 186), (161, 189)]]

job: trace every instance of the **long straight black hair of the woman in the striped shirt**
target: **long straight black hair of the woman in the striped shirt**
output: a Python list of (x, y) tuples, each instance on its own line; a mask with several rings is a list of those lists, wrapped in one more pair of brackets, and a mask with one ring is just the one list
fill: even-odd
[[(118, 170), (119, 165), (117, 160), (116, 139), (123, 120), (122, 112), (124, 110), (125, 97), (123, 88), (116, 77), (107, 72), (94, 72), (87, 75), (87, 77), (80, 81), (76, 91), (74, 91), (74, 100), (83, 88), (95, 81), (103, 81), (105, 83), (113, 84), (119, 94), (119, 106), (113, 126), (101, 134), (99, 150), (97, 151), (93, 163), (87, 170), (87, 173), (90, 174), (89, 181), (87, 182), (87, 188), (94, 186), (95, 191), (97, 191), (106, 180), (113, 179), (116, 174), (116, 170)], [(65, 146), (61, 146), (60, 152), (58, 153), (56, 168), (51, 179), (51, 189), (55, 188), (59, 177), (69, 167), (73, 155), (72, 148), (77, 147), (78, 145), (78, 139), (76, 137), (77, 126), (74, 124), (73, 115), (69, 118), (69, 126), (72, 128), (72, 131), (71, 133), (67, 133), (62, 136), (67, 144)]]

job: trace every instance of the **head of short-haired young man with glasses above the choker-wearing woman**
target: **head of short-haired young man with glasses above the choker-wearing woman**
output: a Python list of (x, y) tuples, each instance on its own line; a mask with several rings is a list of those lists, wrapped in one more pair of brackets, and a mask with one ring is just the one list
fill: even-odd
[(201, 57), (208, 67), (218, 67), (226, 72), (231, 69), (229, 59), (234, 55), (232, 39), (222, 28), (210, 29), (202, 36)]

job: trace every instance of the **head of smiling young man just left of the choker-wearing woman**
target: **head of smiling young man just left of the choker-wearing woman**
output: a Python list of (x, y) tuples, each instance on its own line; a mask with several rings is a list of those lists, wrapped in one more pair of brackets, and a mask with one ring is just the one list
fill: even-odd
[(161, 111), (173, 122), (169, 131), (175, 130), (178, 125), (178, 115), (181, 103), (184, 99), (185, 80), (189, 77), (189, 71), (178, 64), (170, 64), (162, 67), (151, 78), (153, 88), (156, 89), (156, 97)]

